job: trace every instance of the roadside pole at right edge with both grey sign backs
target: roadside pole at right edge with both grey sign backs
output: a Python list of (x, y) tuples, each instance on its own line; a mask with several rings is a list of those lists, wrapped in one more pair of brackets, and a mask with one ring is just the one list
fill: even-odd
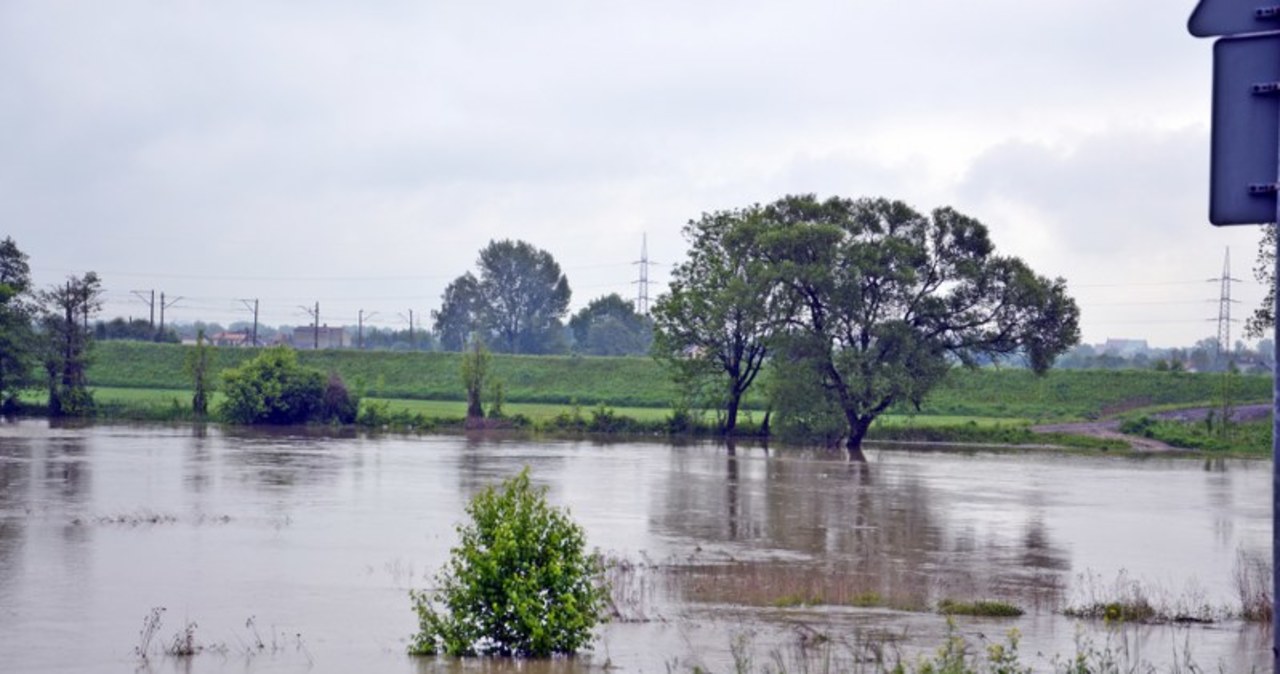
[[(1280, 226), (1280, 4), (1199, 0), (1187, 23), (1213, 43), (1210, 221)], [(1272, 283), (1280, 281), (1280, 239)], [(1280, 293), (1272, 306), (1271, 368), (1271, 662), (1280, 674)]]

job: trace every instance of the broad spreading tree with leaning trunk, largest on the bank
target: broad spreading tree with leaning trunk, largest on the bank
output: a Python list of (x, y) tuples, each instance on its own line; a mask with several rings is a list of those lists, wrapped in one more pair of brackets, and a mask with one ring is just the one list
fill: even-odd
[(1021, 354), (1043, 372), (1079, 341), (1065, 281), (996, 255), (987, 228), (952, 208), (809, 194), (769, 205), (762, 221), (764, 265), (794, 302), (774, 333), (780, 364), (817, 379), (850, 451), (879, 414), (919, 405), (955, 362)]

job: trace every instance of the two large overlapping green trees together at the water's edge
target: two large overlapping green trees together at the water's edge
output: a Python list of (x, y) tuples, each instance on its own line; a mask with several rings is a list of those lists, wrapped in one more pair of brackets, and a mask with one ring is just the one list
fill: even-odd
[(772, 412), (838, 421), (856, 451), (879, 414), (919, 405), (955, 363), (1018, 354), (1043, 372), (1079, 341), (1065, 281), (996, 255), (952, 208), (788, 196), (704, 214), (685, 237), (654, 352), (686, 391), (713, 391), (726, 432), (764, 367)]

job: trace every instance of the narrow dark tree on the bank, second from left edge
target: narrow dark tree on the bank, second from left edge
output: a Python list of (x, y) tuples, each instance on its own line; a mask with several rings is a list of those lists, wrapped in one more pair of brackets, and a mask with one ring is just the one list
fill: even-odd
[(86, 416), (93, 408), (86, 376), (93, 345), (93, 333), (88, 324), (102, 306), (101, 295), (102, 281), (92, 271), (78, 278), (70, 276), (38, 295), (50, 416)]

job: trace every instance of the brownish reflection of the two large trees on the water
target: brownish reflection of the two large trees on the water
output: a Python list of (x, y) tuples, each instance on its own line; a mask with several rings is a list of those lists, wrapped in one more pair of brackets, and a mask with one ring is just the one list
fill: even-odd
[[(774, 596), (758, 602), (788, 601), (797, 583), (810, 593), (832, 591), (832, 577), (910, 605), (946, 596), (1039, 605), (1060, 595), (1069, 555), (1037, 510), (1007, 524), (961, 517), (960, 504), (915, 467), (840, 454), (750, 455), (730, 444), (718, 462), (676, 455), (655, 523), (704, 550), (694, 564), (714, 565), (721, 579), (682, 572), (691, 596), (730, 601), (772, 584)], [(771, 560), (781, 561), (759, 564)]]

